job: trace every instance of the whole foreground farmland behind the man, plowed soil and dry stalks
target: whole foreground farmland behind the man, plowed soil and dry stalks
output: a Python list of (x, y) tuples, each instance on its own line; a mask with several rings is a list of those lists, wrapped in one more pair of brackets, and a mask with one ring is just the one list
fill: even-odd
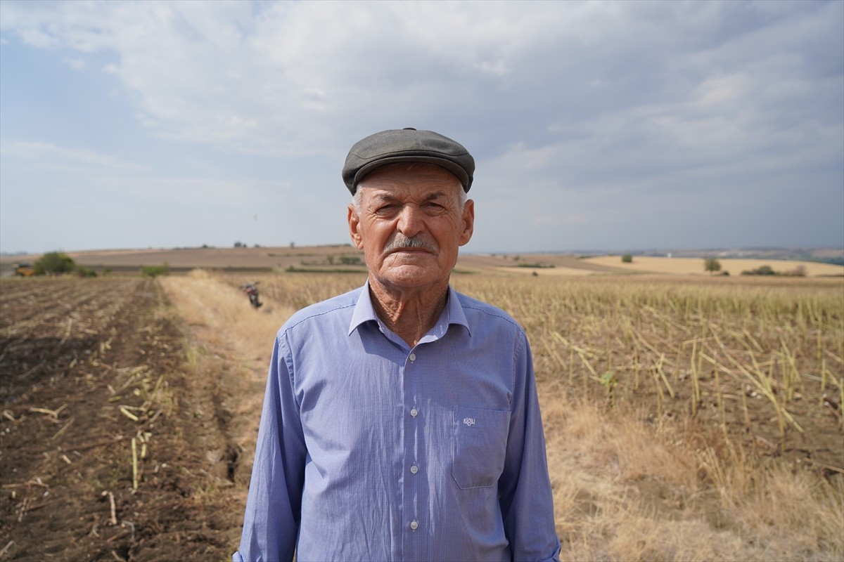
[[(844, 281), (485, 260), (452, 281), (531, 340), (562, 559), (844, 556)], [(364, 280), (248, 275), (259, 311), (235, 272), (2, 281), (0, 558), (230, 556), (273, 333)]]

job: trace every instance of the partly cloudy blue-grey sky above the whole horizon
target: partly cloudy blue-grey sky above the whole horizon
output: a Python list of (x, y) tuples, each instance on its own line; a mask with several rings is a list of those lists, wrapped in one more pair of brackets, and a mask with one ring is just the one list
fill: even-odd
[(438, 131), (468, 253), (844, 248), (844, 2), (0, 2), (0, 251), (347, 244)]

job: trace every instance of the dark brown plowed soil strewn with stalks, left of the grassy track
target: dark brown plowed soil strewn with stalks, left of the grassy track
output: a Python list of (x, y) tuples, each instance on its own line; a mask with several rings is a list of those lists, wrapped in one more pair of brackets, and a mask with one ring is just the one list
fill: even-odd
[(230, 559), (225, 361), (187, 364), (179, 322), (153, 280), (3, 281), (0, 559)]

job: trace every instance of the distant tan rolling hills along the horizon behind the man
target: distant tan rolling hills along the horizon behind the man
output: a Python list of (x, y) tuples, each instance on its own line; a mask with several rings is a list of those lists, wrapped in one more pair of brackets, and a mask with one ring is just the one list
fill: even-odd
[[(844, 249), (648, 249), (625, 252), (632, 264), (622, 264), (617, 252), (570, 252), (524, 254), (460, 254), (455, 270), (460, 273), (511, 275), (588, 276), (613, 274), (706, 275), (704, 258), (715, 257), (731, 276), (743, 270), (769, 265), (777, 272), (803, 265), (809, 276), (844, 276)], [(365, 269), (363, 252), (351, 244), (327, 246), (106, 249), (68, 252), (78, 265), (95, 271), (134, 273), (144, 265), (167, 264), (174, 273), (192, 269), (270, 271), (358, 271)], [(34, 262), (35, 255), (0, 256), (3, 276), (14, 263)]]

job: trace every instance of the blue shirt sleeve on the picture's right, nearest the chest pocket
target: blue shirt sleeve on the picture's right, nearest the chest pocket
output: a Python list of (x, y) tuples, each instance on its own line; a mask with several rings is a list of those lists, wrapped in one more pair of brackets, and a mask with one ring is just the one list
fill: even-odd
[(514, 391), (499, 501), (513, 560), (559, 562), (560, 540), (554, 522), (554, 497), (545, 457), (533, 357), (521, 334), (513, 354)]

